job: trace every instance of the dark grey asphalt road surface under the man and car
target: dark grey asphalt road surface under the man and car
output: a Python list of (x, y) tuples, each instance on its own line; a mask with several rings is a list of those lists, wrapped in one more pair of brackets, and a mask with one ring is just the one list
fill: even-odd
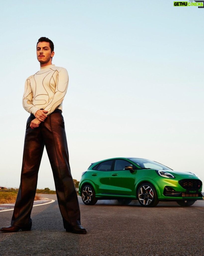
[[(56, 195), (43, 195), (55, 199)], [(0, 233), (1, 256), (203, 256), (204, 201), (180, 207), (160, 202), (155, 208), (114, 200), (86, 206), (79, 197), (87, 234), (63, 229), (57, 201), (34, 207), (31, 231)], [(12, 211), (0, 212), (0, 227), (10, 225)]]

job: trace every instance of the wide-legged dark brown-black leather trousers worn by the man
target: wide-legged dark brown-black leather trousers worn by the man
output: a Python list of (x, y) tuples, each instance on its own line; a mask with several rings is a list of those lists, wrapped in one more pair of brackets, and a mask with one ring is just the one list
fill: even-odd
[(65, 125), (61, 110), (48, 115), (38, 128), (30, 128), (30, 115), (26, 125), (21, 182), (11, 219), (11, 225), (32, 225), (31, 210), (37, 187), (37, 176), (44, 146), (52, 167), (55, 189), (64, 228), (81, 224), (77, 193), (70, 172)]

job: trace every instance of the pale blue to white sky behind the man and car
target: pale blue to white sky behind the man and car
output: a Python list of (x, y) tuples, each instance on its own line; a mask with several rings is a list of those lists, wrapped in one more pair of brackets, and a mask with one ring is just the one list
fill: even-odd
[[(0, 186), (20, 185), (24, 83), (40, 69), (36, 42), (69, 73), (63, 101), (72, 177), (96, 161), (141, 157), (204, 182), (204, 8), (173, 1), (1, 3)], [(55, 189), (46, 150), (37, 188)]]

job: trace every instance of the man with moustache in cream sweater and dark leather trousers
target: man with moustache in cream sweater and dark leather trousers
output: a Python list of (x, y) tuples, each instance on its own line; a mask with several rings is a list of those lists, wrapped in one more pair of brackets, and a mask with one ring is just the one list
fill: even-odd
[(11, 226), (1, 228), (2, 232), (31, 230), (30, 218), (37, 175), (46, 147), (52, 167), (59, 209), (67, 232), (85, 234), (81, 226), (77, 193), (69, 166), (69, 155), (62, 116), (62, 101), (68, 87), (68, 73), (65, 68), (52, 64), (54, 44), (41, 37), (36, 46), (40, 71), (25, 81), (23, 108), (30, 113), (27, 121), (21, 182), (11, 219)]

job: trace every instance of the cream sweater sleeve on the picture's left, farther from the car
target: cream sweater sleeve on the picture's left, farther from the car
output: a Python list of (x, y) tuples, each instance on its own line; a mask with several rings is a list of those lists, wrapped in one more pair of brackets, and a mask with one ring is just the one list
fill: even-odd
[(30, 79), (26, 79), (25, 81), (25, 90), (23, 93), (23, 108), (28, 111), (29, 113), (32, 113), (35, 115), (35, 113), (39, 110), (33, 105), (33, 93), (30, 86)]

